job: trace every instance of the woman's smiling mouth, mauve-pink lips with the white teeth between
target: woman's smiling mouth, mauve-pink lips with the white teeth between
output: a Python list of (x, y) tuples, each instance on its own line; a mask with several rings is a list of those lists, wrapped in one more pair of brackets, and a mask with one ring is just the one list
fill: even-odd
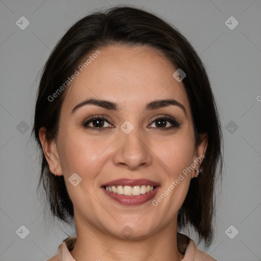
[(103, 184), (102, 190), (122, 205), (141, 205), (152, 199), (160, 184), (148, 179), (117, 179)]

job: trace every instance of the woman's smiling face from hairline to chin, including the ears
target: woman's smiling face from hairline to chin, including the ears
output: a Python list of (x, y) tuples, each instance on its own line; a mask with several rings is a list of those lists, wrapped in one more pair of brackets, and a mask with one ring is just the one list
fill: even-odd
[(206, 148), (195, 147), (176, 69), (151, 47), (110, 46), (68, 87), (46, 158), (64, 175), (76, 226), (141, 238), (175, 224), (200, 165), (185, 170)]

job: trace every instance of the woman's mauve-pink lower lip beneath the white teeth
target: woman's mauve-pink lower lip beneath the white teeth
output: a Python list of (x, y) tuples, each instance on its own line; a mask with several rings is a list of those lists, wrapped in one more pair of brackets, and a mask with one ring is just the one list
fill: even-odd
[(141, 194), (138, 196), (125, 196), (125, 195), (120, 195), (118, 193), (110, 192), (106, 190), (104, 187), (102, 187), (103, 191), (112, 199), (117, 201), (118, 203), (126, 206), (137, 206), (137, 205), (142, 205), (146, 203), (147, 201), (151, 200), (156, 192), (159, 190), (160, 187), (156, 187), (149, 193)]

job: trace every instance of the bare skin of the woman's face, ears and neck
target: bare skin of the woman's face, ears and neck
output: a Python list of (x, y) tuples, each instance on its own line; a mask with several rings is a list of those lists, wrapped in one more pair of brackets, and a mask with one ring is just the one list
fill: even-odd
[[(205, 153), (207, 136), (201, 135), (195, 147), (184, 85), (174, 79), (177, 68), (159, 51), (146, 46), (109, 46), (100, 51), (67, 90), (57, 139), (46, 141), (45, 128), (39, 131), (50, 171), (64, 175), (73, 202), (77, 241), (71, 254), (77, 261), (181, 260), (184, 255), (177, 248), (177, 212), (194, 171), (188, 172), (157, 206), (151, 200), (138, 206), (121, 205), (100, 186), (118, 178), (147, 178), (161, 185), (156, 199)], [(119, 111), (86, 105), (71, 113), (87, 98), (113, 101)], [(169, 98), (180, 102), (187, 114), (173, 105), (144, 110), (152, 100)], [(82, 125), (95, 115), (108, 120), (103, 131)], [(172, 117), (180, 126), (167, 129), (172, 125), (168, 122), (164, 130), (153, 121), (158, 115)], [(120, 129), (126, 120), (134, 126), (129, 134)], [(68, 181), (75, 172), (82, 178), (76, 187)], [(133, 232), (128, 239), (121, 233), (125, 226)]]

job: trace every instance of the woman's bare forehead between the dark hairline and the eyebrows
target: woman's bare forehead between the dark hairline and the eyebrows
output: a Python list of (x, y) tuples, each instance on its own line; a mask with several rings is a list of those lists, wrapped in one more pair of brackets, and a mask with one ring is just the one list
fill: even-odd
[(63, 102), (65, 109), (87, 98), (108, 99), (118, 103), (120, 109), (132, 110), (134, 105), (143, 107), (157, 98), (174, 98), (189, 108), (184, 85), (172, 76), (177, 68), (160, 51), (148, 46), (99, 50), (100, 54), (89, 60), (71, 83)]

